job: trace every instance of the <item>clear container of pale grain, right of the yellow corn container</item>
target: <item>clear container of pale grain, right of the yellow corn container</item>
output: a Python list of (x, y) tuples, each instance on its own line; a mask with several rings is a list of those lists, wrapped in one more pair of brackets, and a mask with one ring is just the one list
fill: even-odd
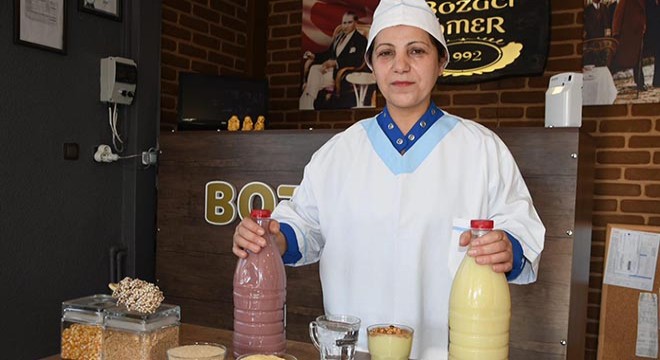
[(180, 321), (177, 305), (161, 304), (152, 314), (125, 306), (105, 309), (102, 358), (167, 359), (167, 350), (179, 345)]

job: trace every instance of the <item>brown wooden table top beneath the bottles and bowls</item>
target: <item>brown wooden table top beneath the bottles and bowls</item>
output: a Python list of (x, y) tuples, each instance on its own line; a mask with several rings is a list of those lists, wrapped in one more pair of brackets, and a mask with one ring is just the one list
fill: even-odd
[[(218, 344), (223, 344), (227, 348), (231, 348), (232, 334), (231, 330), (216, 329), (200, 325), (181, 324), (179, 333), (179, 340), (182, 344), (191, 343), (194, 341), (206, 341)], [(316, 360), (319, 359), (319, 352), (314, 345), (300, 341), (287, 341), (287, 352), (294, 355), (298, 360)], [(367, 353), (357, 353), (355, 360), (370, 360), (371, 356)], [(60, 360), (60, 356), (53, 355), (43, 360)], [(234, 360), (231, 354), (227, 354), (226, 360)]]

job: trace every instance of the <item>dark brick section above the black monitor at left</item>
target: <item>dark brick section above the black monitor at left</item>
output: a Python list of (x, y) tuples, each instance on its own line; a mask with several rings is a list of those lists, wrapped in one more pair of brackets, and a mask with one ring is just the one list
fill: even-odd
[(161, 127), (176, 125), (179, 73), (244, 73), (247, 1), (163, 0)]

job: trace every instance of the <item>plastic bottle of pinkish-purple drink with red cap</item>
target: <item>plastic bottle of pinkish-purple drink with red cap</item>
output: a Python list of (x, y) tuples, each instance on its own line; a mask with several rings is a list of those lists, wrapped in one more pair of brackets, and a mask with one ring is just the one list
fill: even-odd
[(275, 238), (268, 231), (270, 210), (250, 216), (265, 231), (266, 246), (239, 259), (234, 273), (234, 356), (284, 353), (286, 272)]

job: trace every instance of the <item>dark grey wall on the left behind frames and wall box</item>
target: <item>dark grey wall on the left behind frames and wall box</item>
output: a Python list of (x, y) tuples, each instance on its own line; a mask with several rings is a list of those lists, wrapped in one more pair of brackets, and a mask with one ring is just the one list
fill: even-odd
[[(126, 273), (153, 277), (155, 171), (92, 155), (111, 143), (99, 101), (107, 56), (140, 69), (137, 98), (119, 115), (125, 153), (156, 144), (161, 5), (124, 1), (117, 22), (68, 0), (62, 55), (13, 43), (13, 3), (0, 2), (0, 332), (3, 358), (35, 359), (59, 352), (63, 300), (108, 292), (110, 246), (129, 249)], [(64, 160), (63, 143), (77, 143), (80, 158)], [(136, 251), (151, 255), (137, 263)]]

